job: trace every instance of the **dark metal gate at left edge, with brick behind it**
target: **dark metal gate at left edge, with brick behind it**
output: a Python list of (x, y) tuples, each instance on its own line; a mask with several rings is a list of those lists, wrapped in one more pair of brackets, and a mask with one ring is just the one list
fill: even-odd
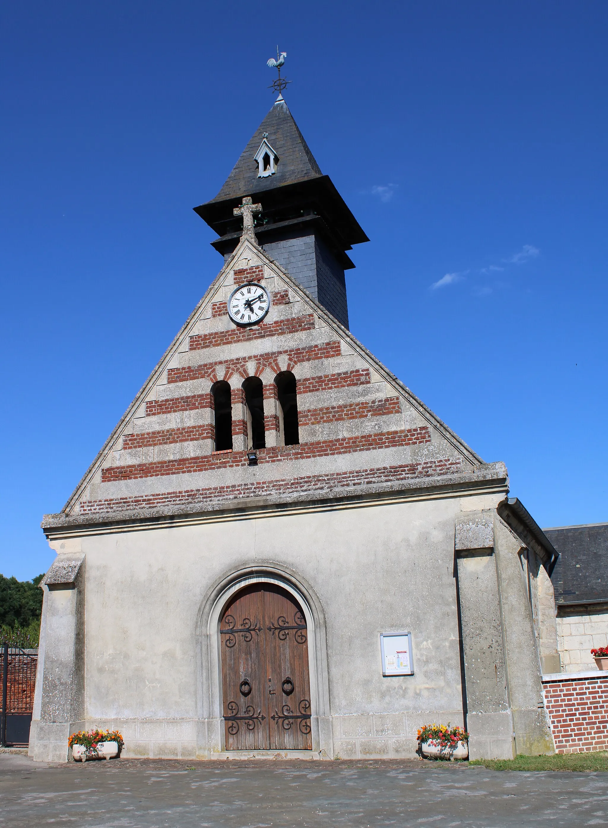
[(6, 748), (26, 747), (30, 741), (34, 710), (36, 665), (34, 652), (2, 645), (2, 718), (0, 744)]

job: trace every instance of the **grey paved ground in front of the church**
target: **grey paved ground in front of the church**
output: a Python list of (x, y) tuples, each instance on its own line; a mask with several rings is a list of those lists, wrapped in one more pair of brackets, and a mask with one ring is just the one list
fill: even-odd
[(0, 755), (0, 828), (608, 826), (608, 773), (419, 760), (33, 763)]

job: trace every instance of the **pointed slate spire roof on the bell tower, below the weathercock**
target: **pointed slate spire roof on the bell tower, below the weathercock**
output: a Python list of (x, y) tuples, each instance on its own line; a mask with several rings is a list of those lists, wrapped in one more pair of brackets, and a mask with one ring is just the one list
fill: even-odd
[[(260, 147), (264, 132), (268, 132), (266, 140), (279, 156), (279, 164), (274, 176), (258, 178), (258, 166), (253, 156)], [(294, 121), (294, 116), (290, 113), (282, 96), (279, 96), (266, 118), (251, 136), (222, 189), (207, 204), (235, 196), (255, 195), (264, 190), (274, 190), (275, 187), (284, 184), (308, 181), (322, 175), (313, 153), (310, 152)]]

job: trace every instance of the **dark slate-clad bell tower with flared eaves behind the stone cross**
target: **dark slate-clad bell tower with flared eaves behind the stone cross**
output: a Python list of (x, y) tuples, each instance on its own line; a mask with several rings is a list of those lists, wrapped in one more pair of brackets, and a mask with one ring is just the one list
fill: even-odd
[(261, 248), (347, 328), (344, 271), (355, 267), (347, 250), (369, 239), (323, 176), (282, 94), (218, 195), (194, 208), (218, 233), (212, 244), (225, 259), (241, 238), (242, 219), (234, 208), (245, 197), (261, 205), (254, 219)]

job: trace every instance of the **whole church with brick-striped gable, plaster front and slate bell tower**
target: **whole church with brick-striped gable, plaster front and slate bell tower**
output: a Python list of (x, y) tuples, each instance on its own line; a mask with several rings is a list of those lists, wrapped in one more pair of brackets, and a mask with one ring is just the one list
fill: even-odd
[(280, 96), (196, 212), (223, 268), (65, 508), (30, 751), (552, 753), (557, 553), (486, 463), (348, 330), (367, 241)]

